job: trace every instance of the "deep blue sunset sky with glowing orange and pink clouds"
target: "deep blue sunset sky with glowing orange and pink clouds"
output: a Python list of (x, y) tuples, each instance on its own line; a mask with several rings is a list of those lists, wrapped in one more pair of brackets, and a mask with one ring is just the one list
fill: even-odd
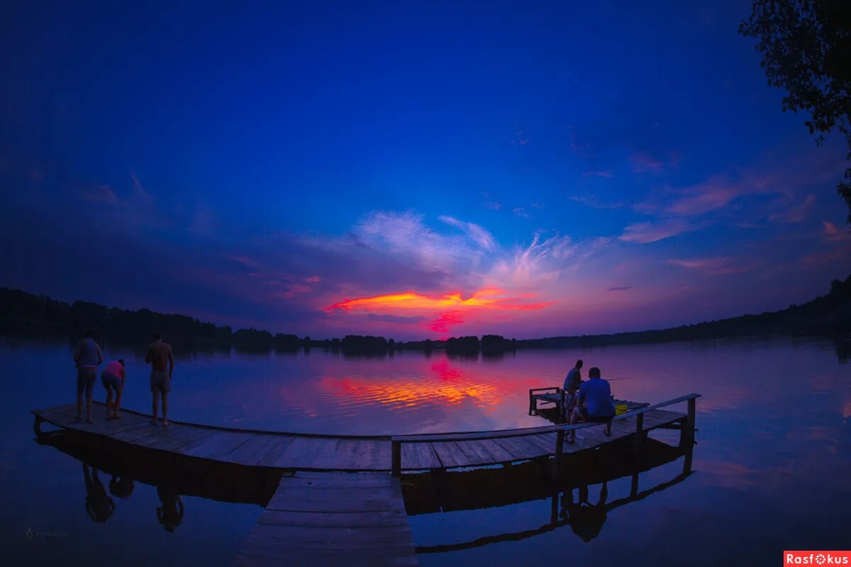
[(285, 4), (4, 4), (0, 286), (524, 338), (851, 272), (846, 148), (781, 111), (750, 2)]

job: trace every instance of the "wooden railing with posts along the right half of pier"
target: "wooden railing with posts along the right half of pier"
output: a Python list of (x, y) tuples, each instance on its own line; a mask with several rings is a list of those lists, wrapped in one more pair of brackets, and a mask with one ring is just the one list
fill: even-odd
[(557, 473), (559, 462), (563, 455), (564, 435), (570, 431), (578, 431), (580, 429), (604, 427), (606, 434), (611, 434), (612, 422), (621, 421), (630, 417), (636, 417), (636, 447), (638, 448), (642, 433), (644, 431), (644, 414), (648, 411), (658, 410), (667, 405), (679, 404), (688, 402), (685, 422), (681, 430), (681, 444), (690, 444), (694, 441), (694, 417), (696, 413), (696, 400), (700, 398), (700, 394), (686, 394), (673, 400), (666, 400), (658, 404), (648, 405), (646, 407), (627, 411), (620, 416), (615, 416), (608, 422), (585, 422), (576, 423), (574, 425), (548, 425), (540, 428), (521, 428), (521, 429), (500, 429), (495, 431), (470, 431), (461, 433), (438, 433), (438, 434), (413, 434), (413, 435), (394, 435), (391, 438), (391, 474), (398, 476), (402, 473), (402, 444), (403, 443), (443, 443), (448, 441), (472, 441), (484, 439), (506, 439), (510, 437), (524, 437), (527, 435), (540, 435), (555, 433), (556, 434), (556, 469)]

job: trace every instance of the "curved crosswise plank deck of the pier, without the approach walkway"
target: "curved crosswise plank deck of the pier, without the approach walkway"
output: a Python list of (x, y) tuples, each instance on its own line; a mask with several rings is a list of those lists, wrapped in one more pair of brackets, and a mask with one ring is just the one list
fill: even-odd
[[(386, 436), (287, 434), (248, 429), (216, 428), (197, 423), (171, 422), (153, 426), (150, 416), (123, 411), (123, 418), (106, 420), (102, 406), (94, 423), (74, 420), (76, 408), (60, 405), (33, 411), (37, 422), (99, 435), (137, 447), (169, 451), (247, 467), (314, 471), (389, 472), (391, 441), (400, 439), (401, 470), (477, 467), (523, 461), (557, 453), (557, 434), (563, 426), (498, 431)], [(643, 430), (683, 422), (686, 414), (651, 410), (643, 414)], [(593, 449), (636, 433), (637, 416), (612, 422), (606, 436), (598, 424), (576, 432), (576, 443), (564, 445), (565, 454)]]

